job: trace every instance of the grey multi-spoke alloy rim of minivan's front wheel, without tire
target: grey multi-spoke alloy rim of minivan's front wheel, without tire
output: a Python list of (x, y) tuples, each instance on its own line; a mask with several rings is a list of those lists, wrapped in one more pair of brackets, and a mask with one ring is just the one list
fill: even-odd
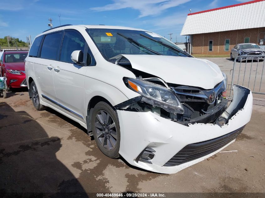
[(104, 149), (114, 150), (117, 144), (117, 130), (110, 114), (100, 110), (95, 119), (96, 135)]

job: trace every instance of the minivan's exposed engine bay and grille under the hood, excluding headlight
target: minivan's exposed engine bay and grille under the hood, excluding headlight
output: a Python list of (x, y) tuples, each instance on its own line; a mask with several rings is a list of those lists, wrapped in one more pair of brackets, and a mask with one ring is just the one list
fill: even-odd
[[(180, 102), (179, 105), (183, 110), (182, 112), (174, 112), (172, 109), (166, 108), (166, 105), (156, 104), (145, 96), (139, 96), (118, 104), (115, 106), (116, 109), (135, 112), (151, 111), (163, 118), (187, 126), (188, 124), (194, 123), (212, 123), (221, 126), (228, 122), (228, 119), (221, 116), (227, 109), (229, 102), (229, 99), (225, 96), (225, 80), (216, 84), (214, 89), (203, 89), (200, 87), (172, 84), (165, 82), (152, 74), (133, 69), (130, 61), (127, 58), (124, 59), (125, 60), (116, 61), (115, 63), (132, 71), (135, 74), (136, 79), (141, 80), (141, 82), (147, 81), (171, 91)], [(133, 84), (131, 82), (132, 80), (128, 80), (127, 78), (124, 78), (123, 80), (125, 85), (132, 89), (130, 86)], [(238, 108), (240, 109), (242, 107), (239, 106)]]

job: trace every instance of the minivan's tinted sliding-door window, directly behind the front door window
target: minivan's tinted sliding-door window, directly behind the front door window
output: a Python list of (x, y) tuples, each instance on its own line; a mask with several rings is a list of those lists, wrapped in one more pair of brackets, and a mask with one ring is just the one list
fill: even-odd
[(40, 52), (40, 58), (51, 60), (57, 59), (61, 35), (62, 32), (57, 32), (45, 36)]

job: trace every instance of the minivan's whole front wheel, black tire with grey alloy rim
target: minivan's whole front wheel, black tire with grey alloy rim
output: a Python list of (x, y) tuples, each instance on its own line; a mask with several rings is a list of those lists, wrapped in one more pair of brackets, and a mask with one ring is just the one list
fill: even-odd
[(95, 105), (91, 119), (94, 139), (101, 152), (110, 157), (119, 157), (120, 129), (114, 109), (105, 102)]

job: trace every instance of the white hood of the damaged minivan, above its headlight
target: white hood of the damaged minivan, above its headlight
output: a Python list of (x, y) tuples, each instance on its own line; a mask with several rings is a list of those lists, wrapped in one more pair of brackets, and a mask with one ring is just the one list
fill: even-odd
[(155, 75), (167, 83), (213, 89), (224, 77), (220, 68), (209, 60), (160, 55), (128, 55), (133, 69)]

